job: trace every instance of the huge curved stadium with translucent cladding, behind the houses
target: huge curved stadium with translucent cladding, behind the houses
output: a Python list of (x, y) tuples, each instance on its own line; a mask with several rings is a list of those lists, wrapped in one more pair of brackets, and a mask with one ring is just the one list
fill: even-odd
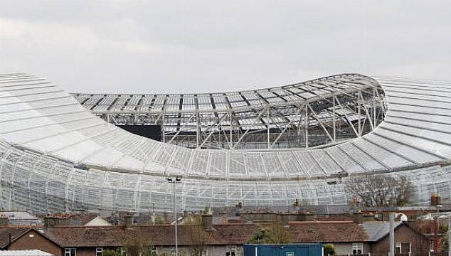
[(451, 84), (333, 75), (240, 92), (69, 94), (0, 75), (0, 208), (169, 211), (348, 204), (353, 176), (451, 196)]

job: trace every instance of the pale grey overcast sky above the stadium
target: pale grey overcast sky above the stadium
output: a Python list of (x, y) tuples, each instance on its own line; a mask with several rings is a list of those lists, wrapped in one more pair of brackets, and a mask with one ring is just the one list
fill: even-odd
[(338, 73), (451, 80), (450, 13), (449, 0), (2, 0), (0, 73), (149, 94)]

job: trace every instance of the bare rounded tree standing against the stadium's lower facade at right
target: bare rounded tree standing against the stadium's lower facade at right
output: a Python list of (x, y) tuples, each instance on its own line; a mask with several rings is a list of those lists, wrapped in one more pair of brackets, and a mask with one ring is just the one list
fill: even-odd
[(413, 184), (405, 176), (366, 174), (351, 178), (345, 191), (360, 206), (405, 206), (413, 194)]

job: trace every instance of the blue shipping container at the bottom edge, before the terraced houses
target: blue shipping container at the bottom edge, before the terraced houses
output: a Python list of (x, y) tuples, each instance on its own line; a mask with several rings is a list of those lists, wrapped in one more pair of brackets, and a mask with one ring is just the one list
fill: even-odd
[(244, 245), (244, 256), (323, 256), (321, 244)]

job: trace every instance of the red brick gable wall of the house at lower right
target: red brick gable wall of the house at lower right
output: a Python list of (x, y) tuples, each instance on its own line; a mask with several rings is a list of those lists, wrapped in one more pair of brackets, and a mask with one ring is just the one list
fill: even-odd
[[(427, 238), (405, 225), (395, 230), (395, 244), (396, 242), (410, 242), (411, 252), (428, 252), (430, 247), (430, 241)], [(387, 255), (390, 251), (389, 247), (390, 238), (387, 236), (371, 246), (371, 253)]]

